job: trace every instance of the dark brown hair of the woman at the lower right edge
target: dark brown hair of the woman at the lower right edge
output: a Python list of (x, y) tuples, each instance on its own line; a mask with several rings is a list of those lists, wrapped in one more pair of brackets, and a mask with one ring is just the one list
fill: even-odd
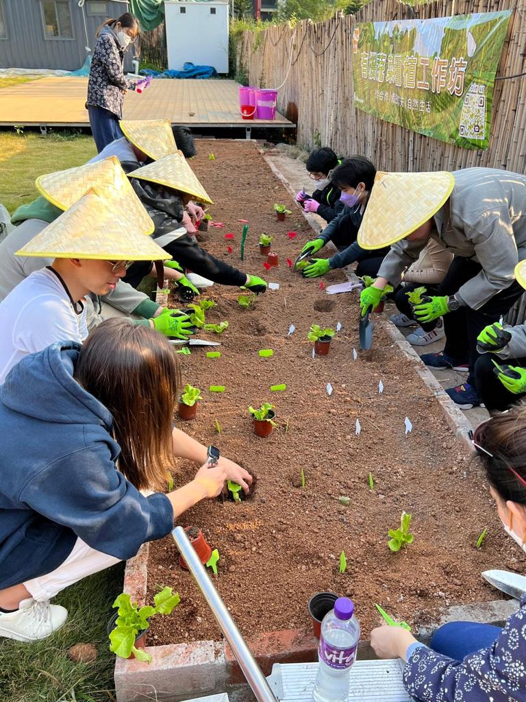
[(480, 424), (473, 442), (487, 479), (501, 498), (526, 507), (526, 404)]

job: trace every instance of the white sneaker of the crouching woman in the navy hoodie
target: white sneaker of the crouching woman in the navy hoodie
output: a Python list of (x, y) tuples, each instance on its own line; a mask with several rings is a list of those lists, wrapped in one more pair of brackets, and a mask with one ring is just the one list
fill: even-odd
[(0, 636), (25, 642), (45, 639), (60, 629), (66, 619), (67, 609), (60, 604), (36, 602), (28, 597), (16, 611), (0, 612)]

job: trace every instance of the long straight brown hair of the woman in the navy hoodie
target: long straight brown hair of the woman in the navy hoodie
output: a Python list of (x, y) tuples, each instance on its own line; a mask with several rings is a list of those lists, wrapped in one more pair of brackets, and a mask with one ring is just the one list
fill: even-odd
[(166, 486), (181, 387), (179, 363), (168, 340), (128, 319), (107, 319), (84, 342), (75, 380), (112, 413), (121, 447), (117, 467), (123, 475), (137, 489)]

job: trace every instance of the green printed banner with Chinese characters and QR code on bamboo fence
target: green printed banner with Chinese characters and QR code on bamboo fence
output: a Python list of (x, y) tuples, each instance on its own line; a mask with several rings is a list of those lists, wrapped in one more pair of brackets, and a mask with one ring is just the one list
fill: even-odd
[(354, 105), (466, 149), (487, 149), (511, 11), (363, 22), (353, 32)]

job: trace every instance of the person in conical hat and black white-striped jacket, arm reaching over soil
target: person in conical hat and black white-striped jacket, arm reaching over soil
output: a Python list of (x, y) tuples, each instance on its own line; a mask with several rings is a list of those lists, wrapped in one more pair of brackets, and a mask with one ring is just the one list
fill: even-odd
[[(126, 165), (126, 164), (125, 164)], [(154, 239), (178, 263), (200, 276), (221, 285), (235, 285), (256, 294), (267, 290), (267, 283), (258, 276), (247, 274), (224, 263), (201, 249), (184, 227), (180, 226), (182, 206), (190, 197), (204, 203), (212, 200), (199, 183), (182, 154), (175, 153), (128, 173), (133, 190), (155, 223)], [(147, 267), (136, 264), (126, 277), (138, 284)]]

